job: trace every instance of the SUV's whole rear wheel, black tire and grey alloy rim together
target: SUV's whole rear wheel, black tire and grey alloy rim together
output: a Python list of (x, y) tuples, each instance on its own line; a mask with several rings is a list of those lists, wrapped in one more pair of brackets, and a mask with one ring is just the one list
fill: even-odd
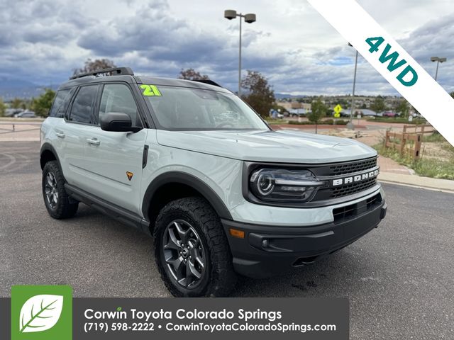
[(65, 191), (65, 179), (56, 161), (47, 162), (43, 169), (43, 198), (49, 215), (56, 219), (75, 215), (79, 202)]

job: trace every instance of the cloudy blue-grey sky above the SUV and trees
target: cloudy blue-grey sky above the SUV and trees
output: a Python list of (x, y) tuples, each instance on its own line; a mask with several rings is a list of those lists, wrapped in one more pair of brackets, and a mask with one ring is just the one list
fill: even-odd
[[(438, 81), (454, 91), (453, 0), (358, 2), (429, 74), (430, 57), (447, 57)], [(257, 16), (243, 22), (243, 74), (262, 73), (276, 93), (351, 93), (355, 50), (305, 0), (0, 0), (0, 84), (60, 84), (87, 58), (109, 58), (157, 77), (192, 67), (236, 91), (239, 21), (225, 9)], [(359, 57), (356, 94), (397, 92)]]

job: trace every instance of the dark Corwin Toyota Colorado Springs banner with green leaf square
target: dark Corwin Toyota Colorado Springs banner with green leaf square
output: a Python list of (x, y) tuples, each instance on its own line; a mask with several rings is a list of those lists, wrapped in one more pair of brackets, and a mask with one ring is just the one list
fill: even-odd
[(0, 339), (349, 339), (346, 298), (72, 298), (67, 286), (17, 287), (0, 298)]

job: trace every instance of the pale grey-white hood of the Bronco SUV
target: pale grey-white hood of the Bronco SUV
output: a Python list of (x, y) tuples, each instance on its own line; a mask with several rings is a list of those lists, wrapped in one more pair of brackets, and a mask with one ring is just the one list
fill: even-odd
[(347, 138), (294, 131), (167, 131), (157, 142), (204, 154), (254, 162), (331, 163), (373, 157), (375, 149)]

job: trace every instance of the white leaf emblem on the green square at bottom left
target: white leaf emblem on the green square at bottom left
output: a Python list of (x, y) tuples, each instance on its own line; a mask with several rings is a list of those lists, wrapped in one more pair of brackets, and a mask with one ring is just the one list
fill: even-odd
[(63, 309), (62, 295), (35, 295), (21, 308), (19, 331), (46, 331), (57, 324)]

